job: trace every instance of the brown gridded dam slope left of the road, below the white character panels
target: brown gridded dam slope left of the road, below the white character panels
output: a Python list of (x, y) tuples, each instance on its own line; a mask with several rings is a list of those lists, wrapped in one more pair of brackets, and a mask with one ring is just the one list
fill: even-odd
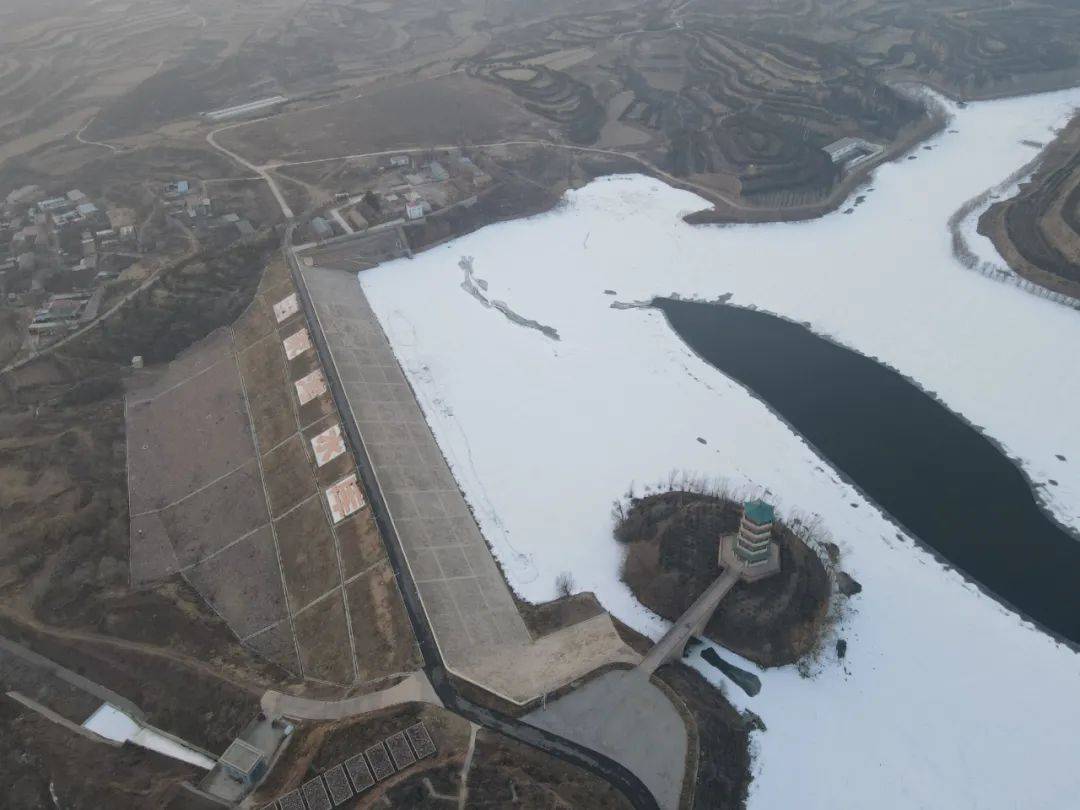
[[(289, 340), (300, 350), (292, 363)], [(136, 375), (131, 570), (139, 584), (180, 571), (252, 649), (289, 672), (348, 684), (359, 677), (355, 643), (351, 616), (333, 609), (342, 597), (327, 598), (345, 593), (346, 575), (322, 490), (354, 468), (339, 434), (311, 467), (306, 445), (327, 429), (333, 440), (337, 419), (316, 407), (332, 403), (310, 347), (292, 281), (268, 273), (231, 327)], [(289, 390), (298, 379), (322, 384), (307, 410)], [(355, 486), (342, 495), (335, 522), (345, 525), (363, 499)]]

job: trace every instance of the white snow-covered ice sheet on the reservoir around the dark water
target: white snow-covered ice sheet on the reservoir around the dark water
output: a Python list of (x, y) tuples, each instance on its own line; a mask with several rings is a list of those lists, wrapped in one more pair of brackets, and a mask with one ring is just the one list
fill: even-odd
[[(659, 312), (610, 305), (730, 293), (807, 322), (935, 392), (1034, 481), (1055, 480), (1049, 505), (1078, 527), (1080, 313), (961, 268), (946, 227), (1031, 160), (1022, 140), (1048, 141), (1078, 103), (1069, 91), (955, 109), (958, 132), (879, 168), (851, 215), (694, 228), (680, 215), (703, 206), (696, 195), (612, 177), (549, 214), (362, 274), (526, 598), (552, 598), (569, 570), (658, 635), (663, 622), (619, 582), (609, 510), (632, 482), (640, 492), (672, 470), (767, 489), (782, 510), (823, 517), (865, 590), (840, 629), (846, 660), (826, 657), (811, 679), (759, 672), (754, 699), (728, 690), (768, 725), (756, 735), (753, 808), (1077, 807), (1080, 656), (900, 535)], [(489, 300), (559, 339), (463, 289), (463, 257)]]

